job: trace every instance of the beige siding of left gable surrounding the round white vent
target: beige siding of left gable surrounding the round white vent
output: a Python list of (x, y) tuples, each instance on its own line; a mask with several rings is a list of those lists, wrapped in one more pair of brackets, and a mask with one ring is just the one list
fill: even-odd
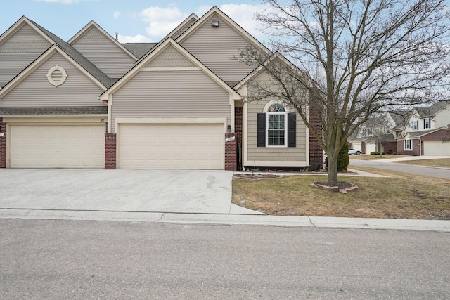
[[(64, 84), (55, 87), (46, 74), (60, 65), (68, 74)], [(3, 107), (98, 106), (103, 89), (59, 53), (54, 54), (1, 99)]]

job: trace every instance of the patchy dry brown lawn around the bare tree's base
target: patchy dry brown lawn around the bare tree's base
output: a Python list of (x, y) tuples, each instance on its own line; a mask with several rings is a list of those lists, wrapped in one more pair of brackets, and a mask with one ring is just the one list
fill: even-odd
[(340, 176), (359, 189), (347, 194), (312, 188), (323, 176), (233, 178), (233, 203), (265, 214), (361, 218), (450, 219), (450, 181), (384, 171), (391, 178)]

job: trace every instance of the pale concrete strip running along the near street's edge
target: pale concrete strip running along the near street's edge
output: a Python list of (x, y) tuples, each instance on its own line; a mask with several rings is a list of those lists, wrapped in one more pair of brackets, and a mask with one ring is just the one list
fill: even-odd
[(0, 219), (139, 221), (154, 223), (210, 224), (234, 226), (281, 226), (297, 228), (428, 230), (450, 233), (450, 221), (446, 220), (333, 218), (323, 216), (268, 216), (256, 214), (174, 214), (142, 211), (0, 209)]

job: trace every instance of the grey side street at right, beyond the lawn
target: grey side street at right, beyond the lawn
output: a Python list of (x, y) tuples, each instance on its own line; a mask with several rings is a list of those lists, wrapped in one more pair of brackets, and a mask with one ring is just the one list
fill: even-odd
[(424, 167), (424, 166), (416, 166), (413, 164), (398, 164), (395, 162), (380, 162), (362, 159), (350, 159), (350, 166), (387, 169), (418, 175), (439, 177), (450, 180), (450, 169), (437, 167)]

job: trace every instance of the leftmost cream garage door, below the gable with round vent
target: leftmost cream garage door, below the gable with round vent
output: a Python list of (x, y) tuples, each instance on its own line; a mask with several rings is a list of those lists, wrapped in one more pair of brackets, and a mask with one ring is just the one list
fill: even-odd
[(105, 125), (11, 126), (11, 168), (105, 167)]

